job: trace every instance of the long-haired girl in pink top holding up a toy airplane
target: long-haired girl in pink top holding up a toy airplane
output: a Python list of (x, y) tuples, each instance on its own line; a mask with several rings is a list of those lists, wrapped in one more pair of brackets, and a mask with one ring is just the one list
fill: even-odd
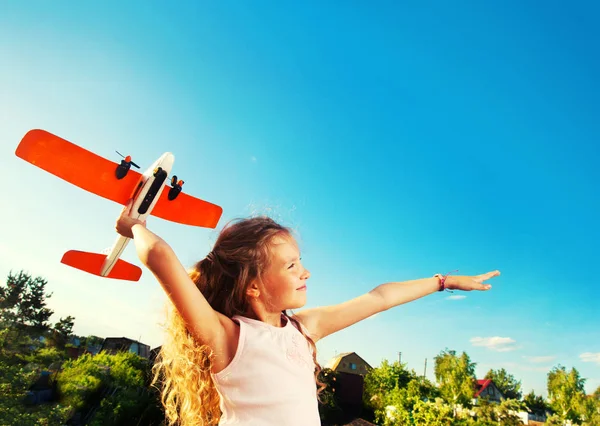
[(345, 303), (299, 311), (310, 272), (289, 229), (266, 217), (226, 226), (188, 272), (129, 217), (117, 220), (172, 302), (155, 364), (169, 425), (320, 425), (315, 342), (373, 314), (444, 289), (488, 290), (498, 271), (382, 284)]

